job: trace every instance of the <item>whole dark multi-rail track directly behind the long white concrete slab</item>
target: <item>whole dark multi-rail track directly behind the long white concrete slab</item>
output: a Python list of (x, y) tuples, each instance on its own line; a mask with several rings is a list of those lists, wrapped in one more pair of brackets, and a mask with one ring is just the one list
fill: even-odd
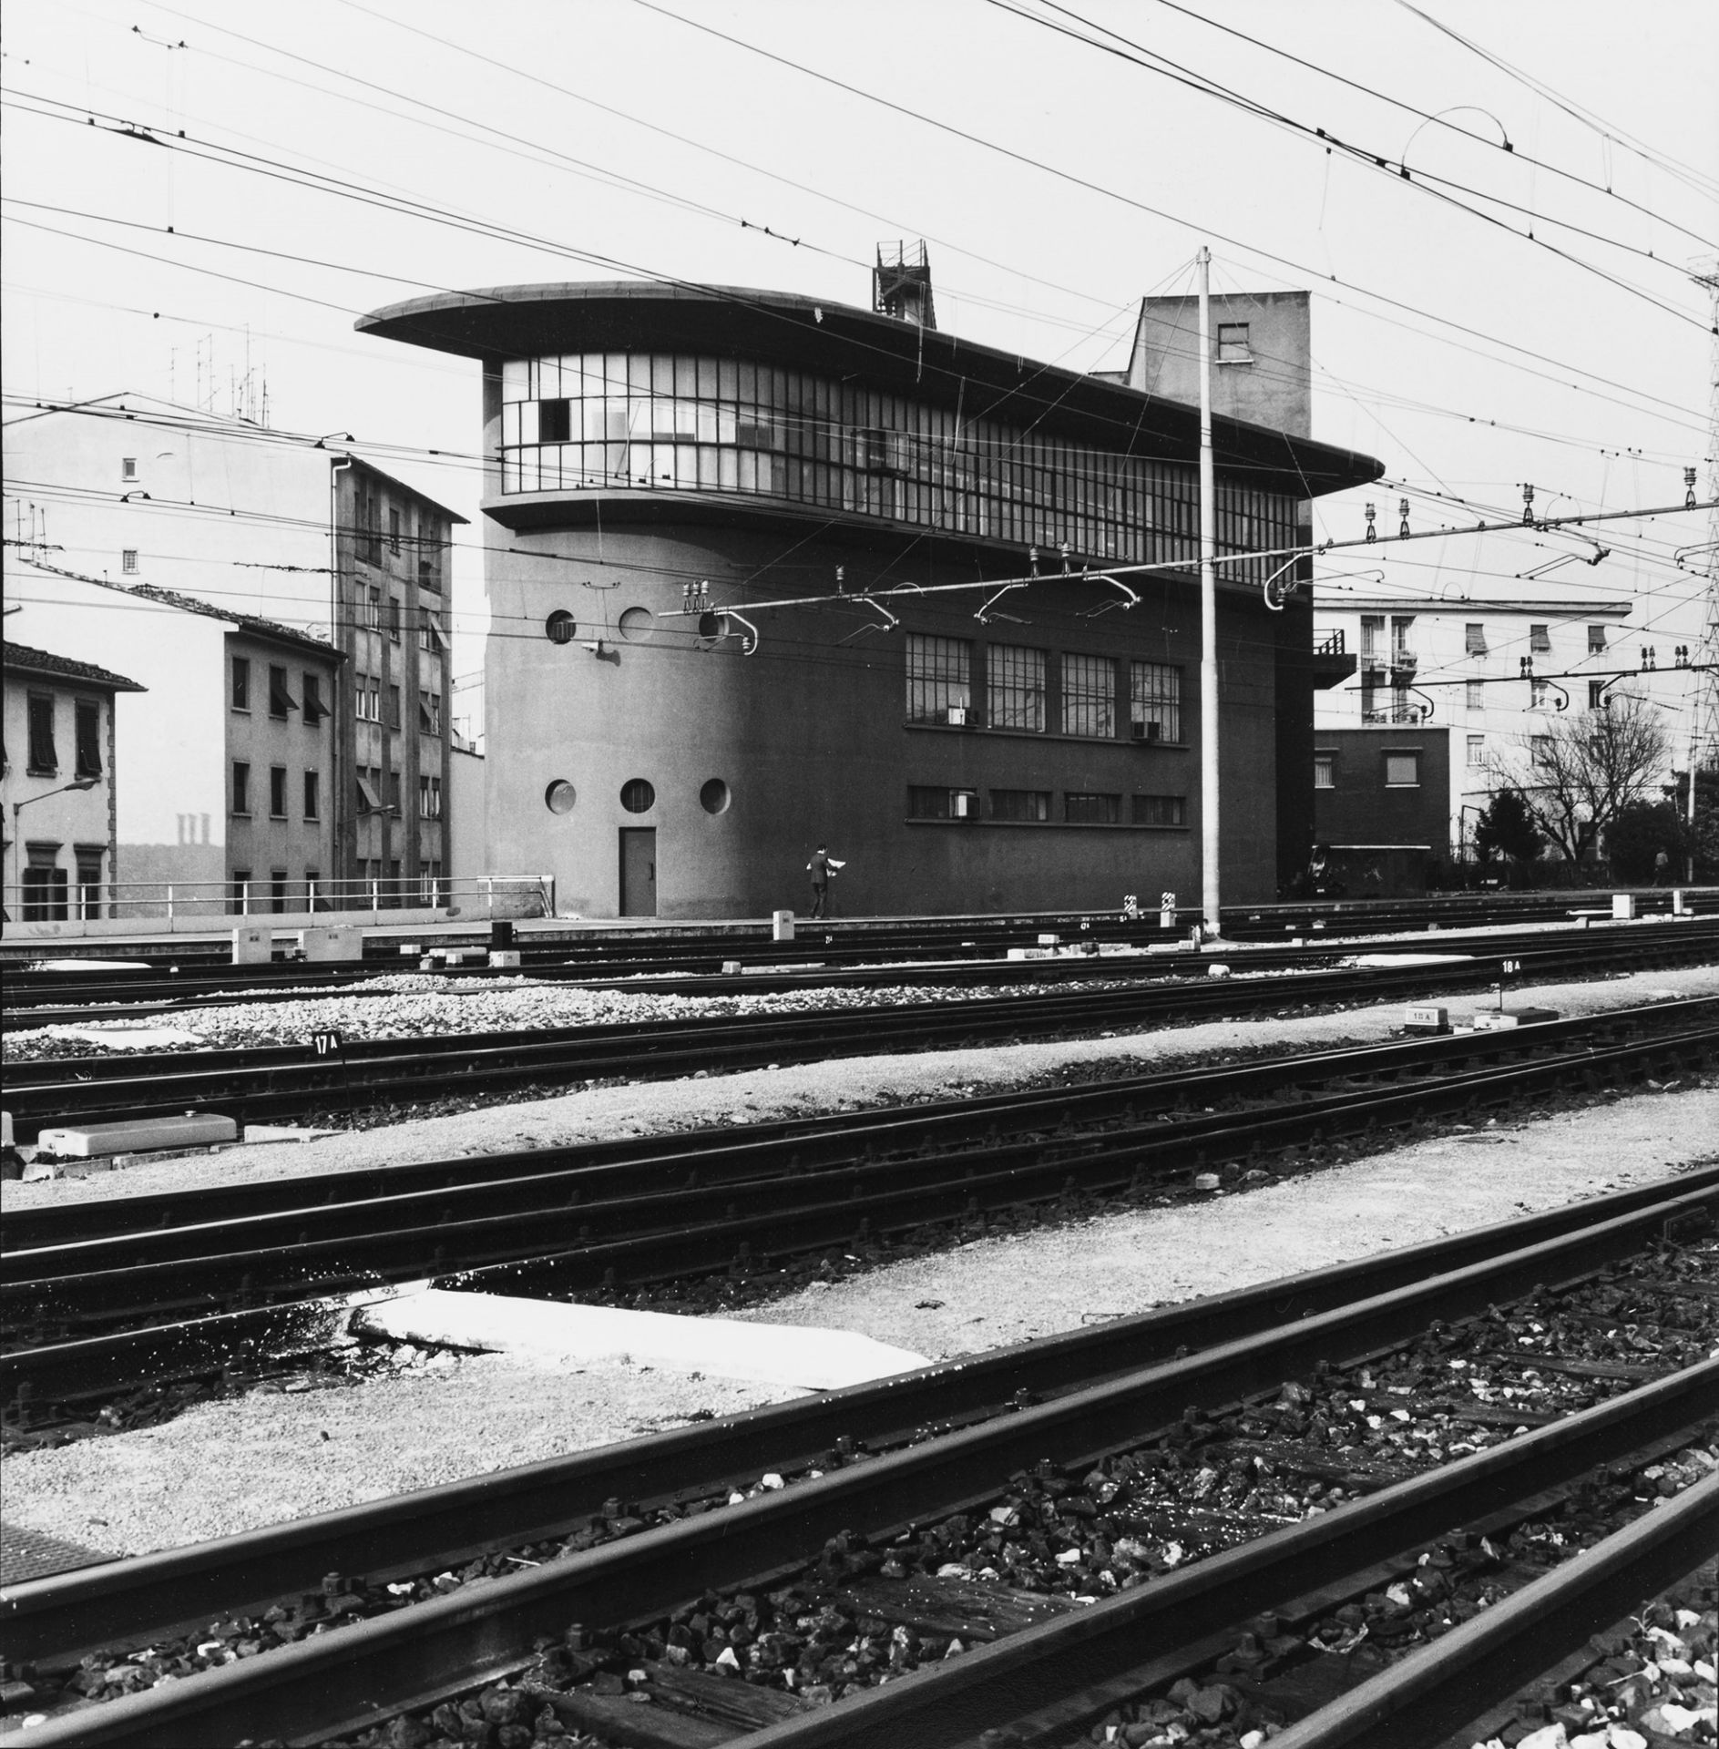
[[(0, 1251), (0, 1401), (38, 1413), (236, 1364), (318, 1327), (304, 1301), (427, 1277), (549, 1298), (699, 1277), (754, 1284), (827, 1249), (887, 1252), (1032, 1207), (1180, 1189), (1189, 1174), (1719, 1053), (1719, 999), (958, 1104), (19, 1210)], [(303, 1338), (292, 1343), (303, 1345)], [(24, 1390), (24, 1387), (28, 1387)]]

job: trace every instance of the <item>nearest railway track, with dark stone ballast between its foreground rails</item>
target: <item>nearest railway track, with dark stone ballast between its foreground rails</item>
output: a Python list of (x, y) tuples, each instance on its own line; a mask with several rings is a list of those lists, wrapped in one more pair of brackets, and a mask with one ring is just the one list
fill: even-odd
[[(1719, 1481), (1675, 1480), (1719, 1417), (1716, 1207), (1710, 1167), (31, 1581), (0, 1620), (58, 1716), (21, 1740), (894, 1749), (1215, 1707), (1238, 1732), (1291, 1721), (1296, 1746), (1437, 1742), (1525, 1656), (1555, 1662), (1710, 1553)], [(1675, 1497), (1647, 1511), (1661, 1483)], [(1598, 1583), (1574, 1604), (1532, 1593), (1576, 1578)], [(1534, 1637), (1500, 1651), (1513, 1623)], [(1430, 1690), (1380, 1702), (1429, 1660)], [(1373, 1690), (1333, 1714), (1355, 1679)]]

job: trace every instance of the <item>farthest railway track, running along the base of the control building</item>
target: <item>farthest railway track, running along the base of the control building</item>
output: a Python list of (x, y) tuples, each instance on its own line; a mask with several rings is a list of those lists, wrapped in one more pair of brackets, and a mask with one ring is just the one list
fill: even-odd
[[(1700, 901), (1696, 901), (1700, 902)], [(1646, 915), (1660, 915), (1668, 901), (1653, 895)], [(1289, 937), (1317, 941), (1324, 936), (1401, 934), (1404, 930), (1439, 932), (1485, 929), (1509, 923), (1567, 922), (1569, 894), (1525, 899), (1507, 904), (1439, 901), (1423, 904), (1319, 904), (1277, 906), (1236, 913), (1226, 920), (1226, 939), (1273, 944)], [(1189, 916), (1187, 922), (1194, 922)], [(764, 925), (741, 925), (722, 932), (673, 932), (670, 936), (579, 934), (546, 937), (542, 932), (521, 936), (516, 943), (521, 965), (491, 969), (486, 964), (455, 964), (442, 974), (458, 986), (483, 990), (495, 979), (610, 981), (637, 979), (644, 974), (696, 978), (701, 986), (722, 976), (724, 964), (743, 960), (748, 967), (745, 988), (757, 988), (755, 978), (803, 972), (817, 965), (824, 974), (855, 979), (876, 978), (878, 967), (916, 960), (953, 960), (979, 965), (1007, 948), (1032, 946), (1040, 934), (1058, 934), (1067, 943), (1165, 944), (1177, 939), (1177, 929), (1159, 927), (1158, 915), (1138, 920), (1116, 916), (1033, 916), (1033, 918), (953, 918), (946, 923), (897, 927), (887, 923), (817, 922), (803, 923), (794, 943), (776, 943)], [(1186, 929), (1184, 929), (1186, 932)], [(472, 936), (425, 936), (423, 948), (437, 953), (481, 955), (486, 941)], [(390, 972), (416, 969), (416, 955), (402, 958), (392, 937), (371, 939), (365, 957), (350, 965), (306, 965), (276, 960), (269, 965), (224, 964), (224, 950), (203, 944), (170, 946), (166, 951), (135, 955), (135, 969), (126, 972), (33, 971), (28, 960), (5, 964), (7, 1013), (10, 1028), (24, 1025), (77, 1025), (96, 1018), (136, 1018), (149, 1013), (173, 1013), (191, 1006), (222, 1002), (290, 1000), (304, 992), (334, 993), (364, 985)], [(128, 957), (133, 957), (128, 953)], [(1068, 971), (1063, 962), (1058, 969)], [(1079, 967), (1074, 967), (1075, 971)]]

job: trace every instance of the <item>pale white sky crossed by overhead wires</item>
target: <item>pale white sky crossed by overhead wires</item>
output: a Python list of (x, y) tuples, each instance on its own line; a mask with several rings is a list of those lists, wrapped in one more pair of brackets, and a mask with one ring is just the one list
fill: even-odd
[[(1399, 0), (1006, 3), (1070, 30), (1109, 26), (1390, 168), (993, 0), (10, 0), (9, 416), (19, 397), (191, 402), (201, 352), (220, 411), (248, 359), (266, 371), (276, 429), (470, 455), (477, 366), (355, 336), (355, 315), (427, 289), (635, 273), (866, 304), (873, 250), (897, 236), (930, 241), (941, 327), (1117, 367), (1137, 299), (1191, 289), (1210, 241), (1215, 290), (1315, 290), (1315, 436), (1380, 456), (1413, 488), (1416, 526), (1467, 519), (1425, 491), (1520, 511), (1534, 481), (1542, 514), (1665, 505), (1700, 463), (1707, 493), (1712, 343), (1689, 268), (1712, 261), (1719, 236), (1719, 7), (1423, 0), (1535, 91)], [(1446, 119), (1479, 140), (1387, 98), (1455, 110)], [(56, 105), (68, 119), (31, 114)], [(184, 129), (184, 149), (126, 138), (110, 117)], [(1490, 143), (1499, 128), (1514, 154)], [(192, 156), (212, 145), (254, 168)], [(1413, 182), (1395, 171), (1404, 157)], [(296, 187), (306, 170), (365, 198)], [(1420, 175), (1462, 184), (1446, 192), (1586, 266), (1434, 198)], [(378, 462), (476, 514), (472, 465)], [(1397, 491), (1380, 486), (1322, 500), (1315, 533), (1359, 535), (1366, 497), (1394, 532)], [(1612, 530), (1607, 563), (1567, 565), (1542, 589), (1651, 595), (1644, 617), (1663, 628), (1668, 661), (1670, 642), (1700, 631), (1703, 582), (1668, 556), (1705, 539), (1707, 516)], [(1362, 593), (1520, 595), (1532, 589), (1520, 572), (1591, 551), (1539, 539), (1385, 549), (1383, 584), (1354, 556), (1326, 570), (1364, 575)], [(456, 672), (470, 672), (476, 553), (458, 558), (456, 603)]]

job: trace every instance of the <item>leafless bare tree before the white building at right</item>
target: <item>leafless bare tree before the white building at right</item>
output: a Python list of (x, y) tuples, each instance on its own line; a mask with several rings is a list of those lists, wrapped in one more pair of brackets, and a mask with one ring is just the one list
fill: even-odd
[(1534, 824), (1579, 862), (1621, 808), (1656, 792), (1670, 750), (1660, 712), (1626, 693), (1598, 710), (1553, 717), (1516, 750), (1492, 759), (1490, 770), (1521, 791)]

